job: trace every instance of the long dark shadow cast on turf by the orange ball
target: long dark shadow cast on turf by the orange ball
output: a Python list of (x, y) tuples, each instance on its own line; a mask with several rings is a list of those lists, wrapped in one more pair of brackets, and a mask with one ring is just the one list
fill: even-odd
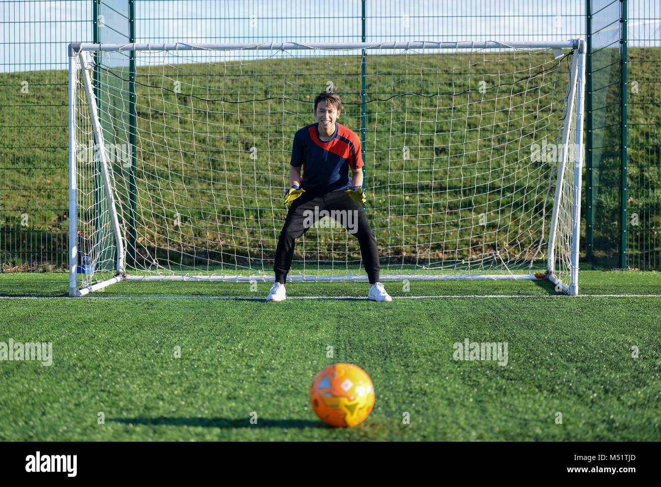
[(228, 418), (110, 418), (108, 421), (124, 424), (142, 424), (149, 426), (202, 426), (212, 428), (291, 428), (291, 429), (305, 429), (305, 428), (321, 428), (329, 429), (330, 426), (325, 425), (321, 421), (307, 421), (307, 420), (267, 420), (258, 418), (256, 424), (251, 424), (250, 418), (241, 418), (240, 420), (230, 420)]

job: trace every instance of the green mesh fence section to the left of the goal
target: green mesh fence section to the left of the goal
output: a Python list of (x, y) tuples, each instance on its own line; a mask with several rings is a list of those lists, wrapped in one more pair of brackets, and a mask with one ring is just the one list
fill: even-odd
[(89, 1), (0, 3), (0, 266), (67, 267), (67, 61), (91, 41)]

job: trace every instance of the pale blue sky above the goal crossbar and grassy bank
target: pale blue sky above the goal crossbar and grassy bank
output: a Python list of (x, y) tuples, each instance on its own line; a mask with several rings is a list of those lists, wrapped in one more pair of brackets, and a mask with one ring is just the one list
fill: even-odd
[[(334, 17), (328, 17), (329, 5), (335, 6)], [(358, 42), (360, 5), (360, 0), (137, 0), (137, 40)], [(585, 36), (584, 0), (369, 0), (366, 5), (368, 42)], [(660, 0), (629, 0), (629, 11), (630, 39), (661, 38)], [(5, 42), (0, 71), (65, 69), (67, 43), (91, 42), (89, 0), (6, 0), (0, 3), (0, 14)], [(602, 17), (613, 15), (602, 13)], [(104, 20), (108, 26), (101, 30), (102, 42), (118, 42), (121, 36), (112, 30), (117, 18)], [(601, 41), (617, 38), (616, 29), (611, 26)]]

